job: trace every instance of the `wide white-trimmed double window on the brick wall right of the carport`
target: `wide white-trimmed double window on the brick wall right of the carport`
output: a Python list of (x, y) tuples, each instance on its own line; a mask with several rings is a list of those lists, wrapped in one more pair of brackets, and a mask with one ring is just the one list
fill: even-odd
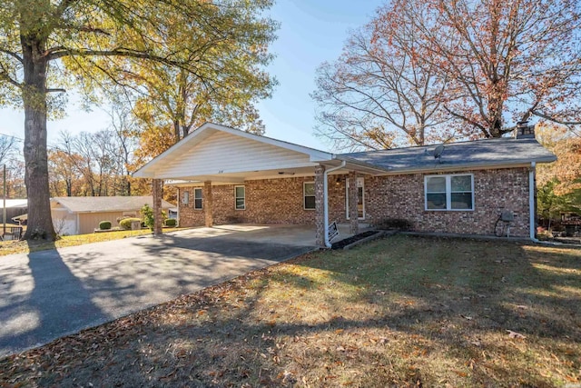
[(428, 175), (424, 178), (426, 210), (474, 210), (474, 175)]

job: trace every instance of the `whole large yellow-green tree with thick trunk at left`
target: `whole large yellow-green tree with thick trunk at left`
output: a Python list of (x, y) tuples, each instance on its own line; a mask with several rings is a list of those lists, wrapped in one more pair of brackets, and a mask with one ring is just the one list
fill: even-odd
[[(244, 69), (257, 72), (270, 60), (267, 49), (276, 25), (262, 16), (270, 6), (271, 0), (3, 2), (0, 104), (25, 110), (25, 238), (54, 238), (46, 120), (63, 108), (59, 92), (79, 84), (87, 90), (96, 84), (125, 85), (134, 69), (150, 66), (183, 72), (202, 90), (228, 95), (223, 81), (245, 60), (257, 58)], [(271, 82), (267, 75), (261, 79)], [(143, 92), (143, 85), (134, 87)], [(268, 85), (265, 90), (268, 95)]]

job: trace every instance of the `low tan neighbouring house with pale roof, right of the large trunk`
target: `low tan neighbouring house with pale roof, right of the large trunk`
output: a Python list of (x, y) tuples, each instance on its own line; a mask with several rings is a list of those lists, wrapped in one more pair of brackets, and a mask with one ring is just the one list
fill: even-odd
[[(153, 206), (153, 197), (145, 196), (61, 196), (51, 198), (51, 214), (58, 234), (90, 234), (101, 221), (117, 226), (122, 217), (141, 217), (144, 204)], [(162, 209), (174, 205), (162, 201)]]

